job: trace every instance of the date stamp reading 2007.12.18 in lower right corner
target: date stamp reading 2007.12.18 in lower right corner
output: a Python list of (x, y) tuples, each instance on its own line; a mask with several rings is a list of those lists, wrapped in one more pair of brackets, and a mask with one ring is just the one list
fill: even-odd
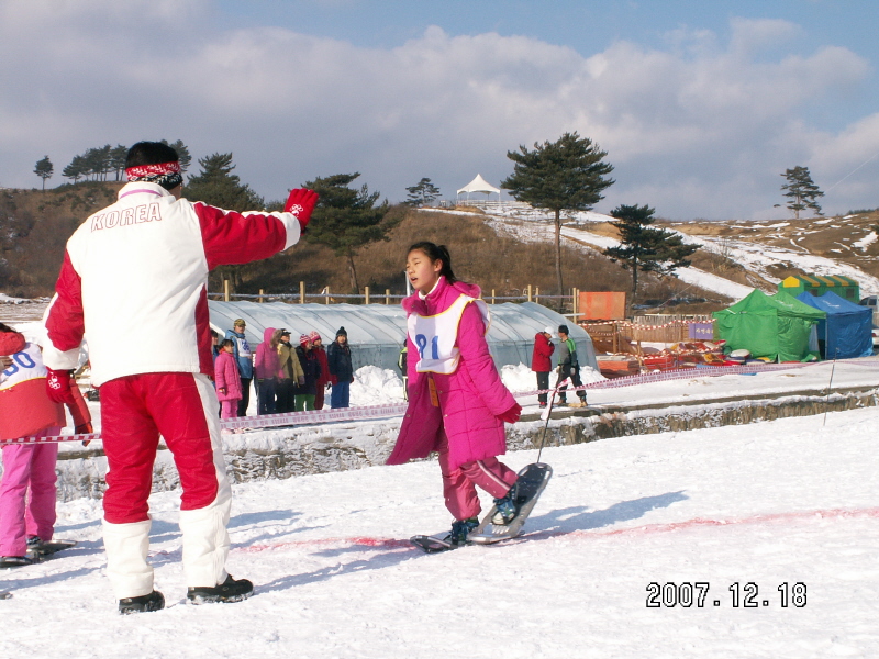
[[(785, 581), (774, 589), (767, 590), (771, 594), (760, 595), (760, 587), (748, 581), (742, 584), (736, 581), (726, 588), (714, 589), (708, 581), (683, 581), (676, 583), (668, 581), (658, 583), (653, 581), (647, 584), (647, 608), (703, 608), (705, 606), (727, 606), (732, 608), (761, 608), (779, 606), (781, 608), (805, 606), (805, 583)], [(763, 591), (764, 593), (766, 590)]]

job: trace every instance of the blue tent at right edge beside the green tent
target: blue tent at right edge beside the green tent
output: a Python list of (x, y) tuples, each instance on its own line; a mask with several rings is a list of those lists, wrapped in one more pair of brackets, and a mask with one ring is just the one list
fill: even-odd
[(827, 320), (817, 324), (817, 337), (824, 342), (825, 359), (872, 355), (872, 311), (869, 306), (853, 304), (830, 291), (819, 298), (803, 292), (797, 299), (827, 312)]

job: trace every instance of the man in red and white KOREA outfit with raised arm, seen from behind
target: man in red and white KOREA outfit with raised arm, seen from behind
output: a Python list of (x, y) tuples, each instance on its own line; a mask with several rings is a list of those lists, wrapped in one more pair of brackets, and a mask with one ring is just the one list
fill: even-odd
[[(211, 382), (208, 272), (267, 258), (294, 245), (318, 194), (290, 192), (285, 212), (237, 213), (181, 199), (177, 153), (157, 142), (127, 154), (129, 183), (67, 243), (46, 311), (44, 360), (56, 401), (88, 342), (101, 391), (101, 436), (109, 472), (103, 499), (108, 576), (122, 613), (156, 611), (164, 596), (147, 562), (147, 499), (159, 435), (182, 488), (180, 530), (188, 597), (237, 602), (253, 592), (225, 571), (232, 492)], [(131, 328), (155, 349), (132, 350)]]

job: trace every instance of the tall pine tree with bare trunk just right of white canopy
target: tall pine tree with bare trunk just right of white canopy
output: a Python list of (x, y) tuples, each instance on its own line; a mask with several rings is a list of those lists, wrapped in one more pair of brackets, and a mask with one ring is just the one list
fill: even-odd
[(534, 143), (534, 150), (524, 146), (507, 152), (515, 163), (513, 174), (501, 187), (510, 190), (518, 201), (555, 214), (556, 280), (563, 294), (561, 281), (561, 211), (588, 211), (601, 199), (601, 192), (614, 183), (605, 178), (613, 166), (601, 160), (608, 153), (588, 137), (576, 132), (565, 133), (558, 141)]

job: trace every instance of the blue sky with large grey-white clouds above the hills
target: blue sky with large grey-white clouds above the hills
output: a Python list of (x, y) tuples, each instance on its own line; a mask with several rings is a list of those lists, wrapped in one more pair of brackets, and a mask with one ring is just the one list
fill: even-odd
[(875, 208), (878, 19), (860, 0), (0, 0), (0, 186), (165, 137), (232, 152), (268, 199), (351, 171), (391, 201), (422, 177), (454, 198), (577, 131), (615, 167), (598, 211), (783, 216), (795, 165), (827, 212)]

